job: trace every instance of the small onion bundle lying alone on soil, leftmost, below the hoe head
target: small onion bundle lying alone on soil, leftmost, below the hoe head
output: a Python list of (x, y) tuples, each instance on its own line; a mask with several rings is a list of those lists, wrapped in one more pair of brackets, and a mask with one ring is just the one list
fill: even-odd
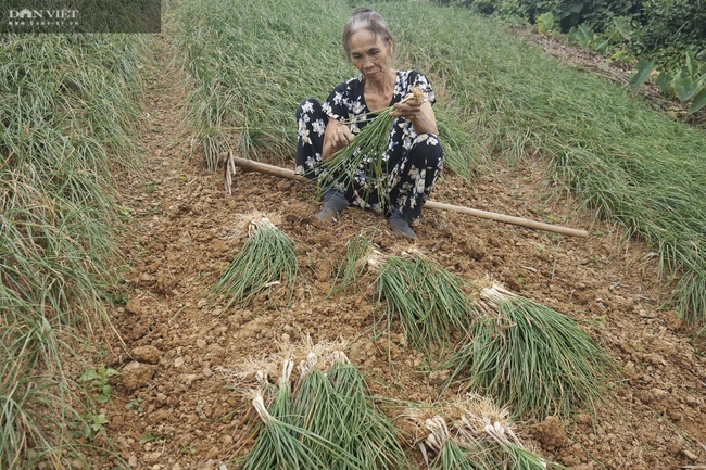
[(227, 297), (226, 307), (243, 307), (280, 283), (290, 284), (291, 295), (299, 271), (294, 243), (267, 218), (253, 220), (248, 231), (248, 241), (211, 291), (212, 296)]

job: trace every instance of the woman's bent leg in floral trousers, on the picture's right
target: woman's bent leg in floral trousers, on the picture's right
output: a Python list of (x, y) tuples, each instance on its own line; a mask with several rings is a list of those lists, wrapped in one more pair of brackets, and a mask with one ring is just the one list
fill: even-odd
[(421, 207), (442, 169), (439, 138), (433, 134), (417, 136), (412, 149), (390, 170), (391, 224), (406, 221), (408, 225), (421, 215)]

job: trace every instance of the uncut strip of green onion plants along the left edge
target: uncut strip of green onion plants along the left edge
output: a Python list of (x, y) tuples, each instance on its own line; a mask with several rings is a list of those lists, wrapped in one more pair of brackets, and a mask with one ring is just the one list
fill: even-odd
[(0, 468), (86, 463), (74, 431), (94, 404), (63, 361), (89, 367), (114, 338), (115, 187), (138, 167), (147, 45), (134, 35), (0, 41)]

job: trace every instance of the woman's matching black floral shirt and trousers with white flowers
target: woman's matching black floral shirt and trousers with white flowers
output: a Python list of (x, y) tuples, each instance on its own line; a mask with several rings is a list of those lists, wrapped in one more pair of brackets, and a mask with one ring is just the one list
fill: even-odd
[[(395, 73), (395, 87), (390, 105), (402, 101), (415, 87), (426, 93), (429, 102), (433, 104), (434, 93), (423, 74), (416, 71)], [(364, 116), (369, 110), (365, 103), (363, 87), (363, 77), (357, 76), (336, 87), (324, 104), (313, 98), (302, 101), (295, 115), (299, 136), (297, 173), (308, 179), (319, 179), (319, 185), (335, 181), (331, 189), (342, 192), (351, 204), (386, 214), (396, 209), (407, 220), (414, 220), (420, 216), (431, 187), (443, 170), (443, 150), (436, 135), (417, 135), (411, 120), (403, 117), (393, 119), (388, 149), (382, 155), (386, 163), (383, 170), (389, 172), (387, 180), (382, 182), (383, 187), (379, 187), (379, 181), (368, 177), (365, 163), (357, 168), (340, 168), (351, 172), (348, 181), (331, 179), (340, 175), (327, 175), (323, 169), (322, 150), (328, 120), (333, 118), (350, 123), (353, 134), (361, 132), (368, 124), (368, 116)], [(333, 173), (336, 172), (335, 169)]]

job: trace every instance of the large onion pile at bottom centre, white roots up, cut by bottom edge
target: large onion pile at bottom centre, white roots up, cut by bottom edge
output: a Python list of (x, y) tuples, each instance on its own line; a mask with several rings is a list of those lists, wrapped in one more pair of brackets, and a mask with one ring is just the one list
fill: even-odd
[(341, 352), (332, 363), (322, 370), (310, 353), (292, 390), (292, 363), (285, 361), (269, 411), (262, 394), (253, 401), (262, 423), (241, 469), (409, 468), (391, 420), (375, 405), (361, 372)]

